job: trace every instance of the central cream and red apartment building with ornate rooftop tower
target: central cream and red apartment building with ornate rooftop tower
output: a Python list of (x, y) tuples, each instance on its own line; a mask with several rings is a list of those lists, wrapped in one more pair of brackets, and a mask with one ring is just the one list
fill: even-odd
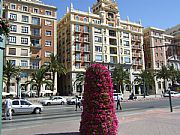
[[(85, 72), (94, 62), (106, 65), (110, 71), (117, 63), (125, 64), (133, 84), (144, 68), (142, 28), (141, 23), (121, 20), (113, 0), (98, 0), (92, 12), (90, 8), (88, 12), (76, 10), (71, 4), (57, 24), (58, 55), (68, 69), (67, 75), (58, 79), (60, 93), (78, 94), (83, 87), (74, 83), (77, 73)], [(135, 92), (140, 94), (141, 90), (136, 87)]]

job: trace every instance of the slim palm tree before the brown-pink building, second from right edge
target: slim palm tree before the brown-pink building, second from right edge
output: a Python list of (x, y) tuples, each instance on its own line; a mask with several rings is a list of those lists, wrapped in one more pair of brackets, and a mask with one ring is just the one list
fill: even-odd
[(157, 71), (156, 74), (157, 79), (163, 79), (163, 87), (164, 87), (164, 92), (166, 92), (166, 83), (165, 81), (168, 81), (170, 78), (170, 72), (169, 69), (166, 66), (162, 66), (160, 70)]

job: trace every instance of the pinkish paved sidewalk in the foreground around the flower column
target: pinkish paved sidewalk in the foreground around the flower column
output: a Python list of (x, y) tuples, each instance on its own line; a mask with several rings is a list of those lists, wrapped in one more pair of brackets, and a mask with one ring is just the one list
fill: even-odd
[[(117, 112), (118, 135), (178, 135), (180, 134), (180, 109), (173, 113), (166, 109), (127, 113)], [(53, 120), (50, 123), (18, 127), (3, 131), (3, 135), (79, 135), (80, 118), (67, 121)]]

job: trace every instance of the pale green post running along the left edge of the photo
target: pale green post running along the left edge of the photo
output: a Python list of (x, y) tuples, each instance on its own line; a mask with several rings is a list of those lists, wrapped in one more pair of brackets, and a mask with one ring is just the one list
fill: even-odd
[[(3, 14), (3, 0), (0, 0), (0, 18)], [(3, 89), (3, 50), (5, 49), (5, 35), (0, 32), (0, 116), (2, 116), (2, 89)], [(0, 119), (0, 135), (2, 129), (2, 119)]]

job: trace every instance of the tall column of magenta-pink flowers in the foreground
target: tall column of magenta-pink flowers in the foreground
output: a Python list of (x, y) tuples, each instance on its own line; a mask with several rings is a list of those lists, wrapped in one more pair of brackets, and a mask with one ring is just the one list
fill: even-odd
[(113, 86), (110, 72), (101, 64), (86, 71), (80, 135), (117, 135)]

